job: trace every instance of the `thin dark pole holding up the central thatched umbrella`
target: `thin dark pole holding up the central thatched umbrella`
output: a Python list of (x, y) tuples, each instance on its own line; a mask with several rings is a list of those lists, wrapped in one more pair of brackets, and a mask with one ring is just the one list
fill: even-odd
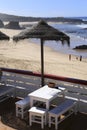
[(44, 51), (43, 39), (41, 39), (41, 85), (44, 86)]

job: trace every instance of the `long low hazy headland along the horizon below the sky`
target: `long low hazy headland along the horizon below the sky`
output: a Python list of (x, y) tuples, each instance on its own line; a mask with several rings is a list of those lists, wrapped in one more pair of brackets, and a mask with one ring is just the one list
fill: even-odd
[(24, 16), (15, 16), (0, 13), (0, 20), (4, 22), (8, 21), (18, 21), (18, 22), (34, 22), (39, 21), (40, 19), (44, 19), (47, 22), (63, 22), (63, 23), (71, 23), (71, 24), (87, 24), (87, 21), (83, 21), (82, 19), (78, 18), (66, 18), (66, 17), (24, 17)]

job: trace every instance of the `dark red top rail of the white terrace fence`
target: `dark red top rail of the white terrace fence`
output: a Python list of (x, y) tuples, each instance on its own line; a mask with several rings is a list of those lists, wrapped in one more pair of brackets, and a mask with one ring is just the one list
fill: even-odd
[[(9, 68), (1, 68), (1, 69), (2, 69), (2, 71), (5, 71), (5, 72), (12, 72), (12, 73), (16, 73), (16, 74), (41, 77), (40, 73), (36, 73), (36, 72), (32, 72), (32, 71), (9, 69)], [(69, 78), (69, 77), (63, 77), (63, 76), (56, 76), (56, 75), (51, 75), (51, 74), (44, 74), (44, 78), (50, 78), (50, 79), (54, 79), (54, 80), (60, 80), (60, 81), (65, 81), (65, 82), (87, 85), (87, 80), (81, 80), (81, 79), (75, 79), (75, 78)]]

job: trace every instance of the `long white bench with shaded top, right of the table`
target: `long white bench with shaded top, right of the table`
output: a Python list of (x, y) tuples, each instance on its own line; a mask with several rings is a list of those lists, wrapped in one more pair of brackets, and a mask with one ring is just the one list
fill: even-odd
[(51, 127), (51, 124), (54, 124), (55, 129), (57, 130), (58, 124), (60, 122), (62, 122), (65, 118), (69, 117), (73, 112), (76, 112), (75, 104), (76, 104), (76, 101), (74, 100), (66, 100), (63, 103), (61, 103), (59, 106), (57, 106), (56, 108), (48, 111), (49, 127)]

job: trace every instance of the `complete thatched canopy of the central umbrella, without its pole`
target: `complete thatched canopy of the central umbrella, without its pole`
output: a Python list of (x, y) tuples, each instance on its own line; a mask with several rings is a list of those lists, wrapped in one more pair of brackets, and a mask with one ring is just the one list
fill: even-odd
[(13, 37), (13, 40), (18, 41), (25, 38), (42, 38), (43, 40), (60, 40), (67, 41), (69, 43), (69, 36), (65, 33), (53, 28), (48, 25), (45, 21), (41, 20), (36, 26), (33, 26), (32, 29), (26, 29)]

